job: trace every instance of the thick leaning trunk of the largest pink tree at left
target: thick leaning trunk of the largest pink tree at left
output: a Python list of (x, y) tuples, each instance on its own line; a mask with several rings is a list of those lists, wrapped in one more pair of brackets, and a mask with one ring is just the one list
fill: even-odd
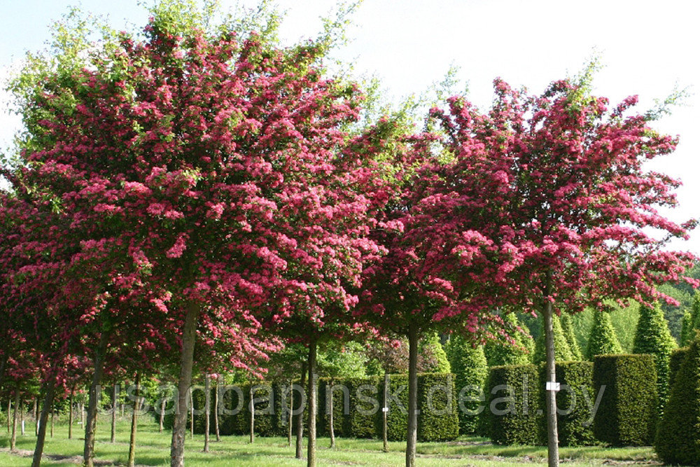
[(188, 305), (185, 326), (182, 333), (182, 361), (178, 382), (178, 400), (173, 421), (173, 435), (170, 447), (170, 466), (185, 466), (185, 430), (187, 426), (187, 393), (192, 384), (192, 365), (195, 355), (197, 321), (200, 317), (199, 305)]

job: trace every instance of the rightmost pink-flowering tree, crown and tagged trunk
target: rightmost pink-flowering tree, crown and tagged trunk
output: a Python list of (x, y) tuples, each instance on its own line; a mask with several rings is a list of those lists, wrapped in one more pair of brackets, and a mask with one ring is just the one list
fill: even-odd
[[(675, 139), (649, 126), (658, 113), (630, 114), (636, 97), (613, 109), (591, 97), (589, 78), (556, 81), (540, 96), (496, 80), (486, 113), (462, 97), (449, 99), (448, 111), (433, 111), (454, 158), (427, 198), (434, 218), (451, 225), (440, 242), (433, 237), (451, 246), (444, 277), (472, 290), (474, 274), (454, 272), (485, 258), (496, 304), (544, 317), (550, 381), (556, 309), (603, 309), (606, 298), (672, 300), (655, 286), (682, 279), (694, 260), (666, 250), (694, 223), (678, 225), (656, 210), (676, 204), (679, 182), (643, 165), (671, 153)], [(548, 391), (550, 465), (559, 462), (554, 396)]]

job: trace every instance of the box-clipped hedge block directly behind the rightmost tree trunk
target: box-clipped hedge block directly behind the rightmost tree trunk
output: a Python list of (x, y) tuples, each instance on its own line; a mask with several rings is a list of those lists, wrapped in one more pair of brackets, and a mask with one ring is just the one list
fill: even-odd
[[(540, 366), (540, 405), (547, 413), (545, 382), (547, 369)], [(593, 433), (589, 405), (596, 400), (593, 387), (593, 363), (589, 361), (556, 362), (556, 382), (561, 390), (556, 393), (556, 407), (563, 412), (556, 417), (560, 446), (591, 446), (598, 444)], [(540, 442), (547, 444), (547, 417), (540, 419)]]

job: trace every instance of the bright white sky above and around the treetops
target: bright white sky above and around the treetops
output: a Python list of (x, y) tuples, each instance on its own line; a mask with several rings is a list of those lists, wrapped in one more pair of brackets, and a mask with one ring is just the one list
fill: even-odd
[[(242, 4), (254, 5), (251, 0)], [(48, 25), (76, 2), (0, 0), (0, 78), (48, 39)], [(235, 0), (222, 0), (225, 8)], [(315, 36), (320, 15), (331, 0), (279, 0), (288, 11), (283, 39)], [(83, 0), (85, 11), (109, 14), (115, 27), (142, 26), (147, 13), (137, 0)], [(594, 82), (597, 95), (615, 103), (640, 96), (640, 110), (663, 99), (678, 85), (691, 97), (657, 123), (659, 130), (680, 134), (678, 150), (654, 161), (654, 169), (680, 178), (680, 207), (674, 221), (700, 217), (700, 8), (692, 1), (549, 1), (549, 0), (365, 0), (348, 29), (351, 43), (336, 54), (356, 71), (381, 78), (391, 95), (402, 97), (440, 81), (451, 64), (461, 69), (470, 99), (491, 102), (496, 76), (511, 85), (542, 91), (547, 83), (582, 69), (594, 49), (605, 65)], [(0, 148), (6, 151), (20, 122), (6, 111), (0, 93)], [(700, 229), (678, 249), (700, 254)]]

